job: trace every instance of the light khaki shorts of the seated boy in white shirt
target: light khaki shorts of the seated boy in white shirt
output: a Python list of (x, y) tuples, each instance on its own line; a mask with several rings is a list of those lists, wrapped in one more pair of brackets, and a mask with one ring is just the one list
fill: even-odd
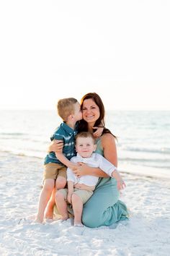
[[(68, 189), (60, 189), (58, 191), (60, 191), (63, 194), (65, 200), (67, 200)], [(74, 188), (73, 189), (73, 194), (78, 195), (81, 198), (81, 200), (84, 204), (87, 200), (89, 200), (91, 195), (93, 195), (93, 191)]]

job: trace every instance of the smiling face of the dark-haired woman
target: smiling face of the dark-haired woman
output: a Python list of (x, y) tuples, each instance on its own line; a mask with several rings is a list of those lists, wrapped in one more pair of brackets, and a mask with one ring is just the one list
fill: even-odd
[(83, 119), (87, 123), (95, 123), (95, 121), (97, 121), (97, 119), (99, 119), (100, 116), (99, 107), (91, 98), (89, 98), (85, 100), (83, 103), (82, 114)]

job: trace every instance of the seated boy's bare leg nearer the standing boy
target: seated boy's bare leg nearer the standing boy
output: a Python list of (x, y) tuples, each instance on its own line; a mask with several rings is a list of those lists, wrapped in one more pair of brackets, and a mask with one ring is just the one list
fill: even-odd
[(56, 205), (57, 205), (57, 208), (58, 208), (58, 211), (59, 211), (59, 213), (61, 214), (61, 216), (62, 216), (62, 220), (63, 221), (66, 221), (68, 218), (69, 218), (69, 216), (68, 216), (68, 210), (67, 210), (67, 202), (66, 202), (66, 200), (65, 200), (65, 198), (64, 198), (64, 195), (60, 192), (60, 191), (58, 191), (57, 193), (56, 193), (56, 196), (55, 196), (55, 203), (56, 203)]

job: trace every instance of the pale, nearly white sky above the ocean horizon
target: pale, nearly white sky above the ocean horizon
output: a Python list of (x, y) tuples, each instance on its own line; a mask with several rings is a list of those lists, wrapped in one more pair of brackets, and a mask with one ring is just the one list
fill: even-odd
[(106, 109), (170, 110), (170, 1), (0, 1), (0, 109), (96, 92)]

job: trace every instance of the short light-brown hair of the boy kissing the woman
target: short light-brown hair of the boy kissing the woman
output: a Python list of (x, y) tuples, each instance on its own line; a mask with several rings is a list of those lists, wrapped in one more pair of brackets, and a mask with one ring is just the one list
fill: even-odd
[(58, 115), (63, 121), (67, 121), (68, 116), (74, 114), (74, 104), (77, 102), (76, 98), (62, 98), (57, 103)]

